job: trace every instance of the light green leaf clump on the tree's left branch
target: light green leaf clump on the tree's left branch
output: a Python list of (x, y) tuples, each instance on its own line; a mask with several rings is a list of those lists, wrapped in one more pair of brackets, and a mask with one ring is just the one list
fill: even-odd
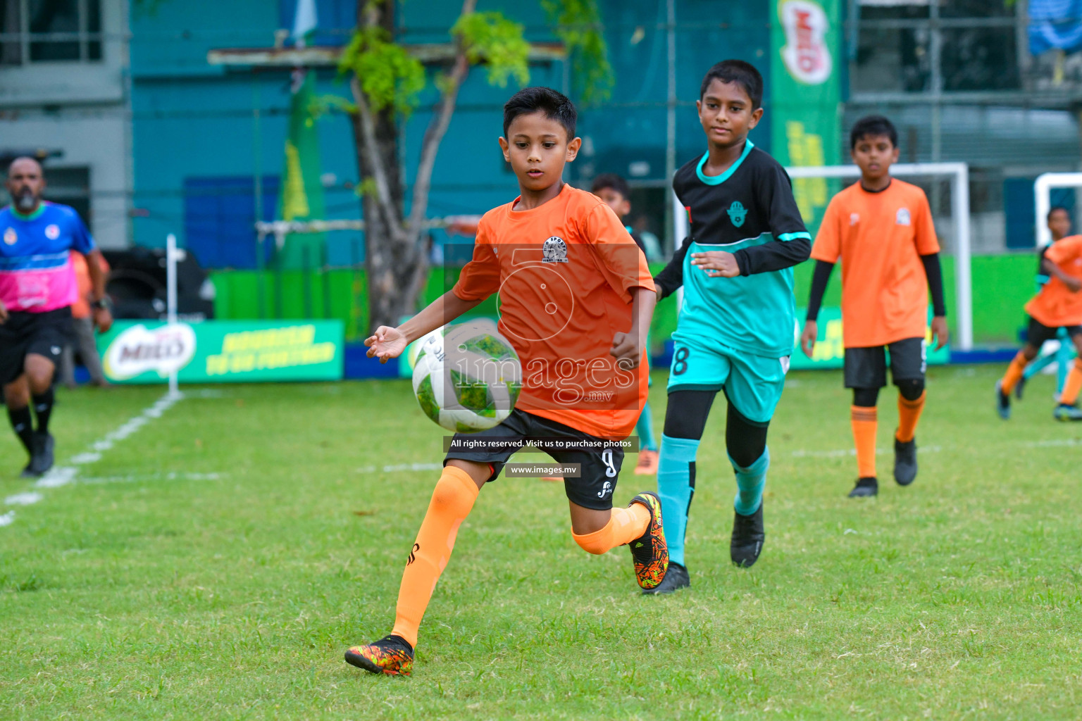
[(339, 71), (357, 76), (373, 111), (393, 108), (407, 115), (424, 90), (424, 66), (381, 27), (357, 28), (339, 62)]

